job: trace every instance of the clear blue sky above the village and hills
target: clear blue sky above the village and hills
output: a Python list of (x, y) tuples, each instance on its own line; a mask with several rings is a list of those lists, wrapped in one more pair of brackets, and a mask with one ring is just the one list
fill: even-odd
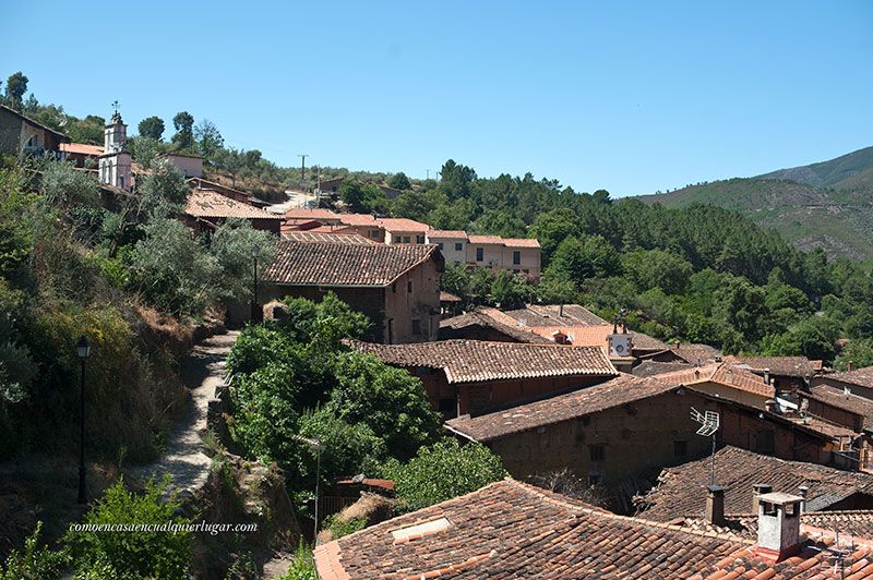
[[(614, 196), (873, 145), (873, 2), (2, 2), (0, 77), (280, 165)], [(171, 131), (168, 131), (171, 133)]]

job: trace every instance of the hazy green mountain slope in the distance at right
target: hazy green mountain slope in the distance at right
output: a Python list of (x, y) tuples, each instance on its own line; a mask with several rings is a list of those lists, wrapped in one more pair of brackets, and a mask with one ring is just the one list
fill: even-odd
[(667, 207), (695, 203), (734, 209), (803, 250), (873, 257), (873, 147), (829, 161), (645, 195)]

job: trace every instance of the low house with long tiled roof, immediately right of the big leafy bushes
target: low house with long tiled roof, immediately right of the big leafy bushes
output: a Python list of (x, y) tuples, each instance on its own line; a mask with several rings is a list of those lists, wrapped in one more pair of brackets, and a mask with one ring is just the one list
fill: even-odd
[(351, 346), (419, 377), (444, 416), (588, 387), (618, 374), (602, 349), (589, 347), (478, 340)]

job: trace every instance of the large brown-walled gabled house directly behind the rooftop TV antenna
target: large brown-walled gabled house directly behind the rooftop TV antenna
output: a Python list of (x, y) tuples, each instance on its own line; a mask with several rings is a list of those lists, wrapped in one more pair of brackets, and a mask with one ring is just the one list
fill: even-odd
[(487, 445), (515, 478), (571, 469), (593, 483), (615, 484), (702, 457), (711, 438), (697, 435), (692, 409), (719, 414), (718, 439), (757, 452), (854, 467), (857, 436), (823, 420), (788, 416), (720, 398), (697, 386), (622, 374), (589, 388), (459, 416), (446, 428)]

